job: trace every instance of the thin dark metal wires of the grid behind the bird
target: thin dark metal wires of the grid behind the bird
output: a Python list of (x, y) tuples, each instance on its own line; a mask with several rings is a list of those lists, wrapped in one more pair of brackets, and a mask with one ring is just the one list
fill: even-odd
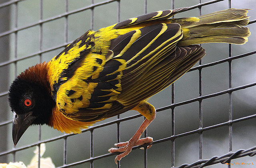
[[(43, 12), (42, 3), (43, 3), (43, 0), (40, 0), (40, 20), (39, 20), (39, 22), (34, 23), (34, 24), (30, 24), (30, 25), (24, 26), (24, 27), (18, 27), (18, 24), (17, 24), (18, 23), (18, 3), (21, 2), (21, 1), (23, 1), (23, 0), (11, 0), (9, 2), (0, 4), (0, 8), (5, 7), (5, 6), (9, 6), (9, 5), (14, 5), (15, 6), (15, 9), (14, 9), (14, 11), (15, 11), (15, 14), (14, 14), (15, 28), (0, 34), (0, 37), (6, 36), (6, 35), (9, 35), (9, 34), (14, 34), (14, 43), (15, 43), (14, 59), (13, 60), (8, 60), (6, 62), (1, 62), (0, 67), (11, 64), (11, 63), (14, 63), (15, 76), (17, 76), (17, 62), (18, 61), (24, 60), (26, 58), (34, 57), (36, 55), (39, 55), (40, 56), (40, 61), (42, 61), (42, 54), (44, 54), (46, 52), (50, 52), (52, 50), (63, 48), (64, 46), (66, 46), (68, 44), (68, 16), (70, 14), (78, 13), (78, 12), (81, 12), (81, 11), (84, 11), (84, 10), (91, 10), (91, 28), (93, 29), (94, 28), (94, 8), (97, 7), (97, 6), (101, 6), (101, 5), (104, 5), (104, 4), (111, 3), (111, 2), (118, 2), (118, 5), (117, 5), (117, 10), (118, 10), (117, 21), (118, 22), (120, 21), (120, 0), (106, 0), (106, 1), (103, 1), (103, 2), (99, 2), (99, 3), (94, 3), (94, 0), (91, 0), (91, 5), (90, 6), (86, 6), (86, 7), (80, 8), (78, 10), (73, 10), (73, 11), (68, 11), (68, 0), (66, 0), (65, 1), (65, 3), (66, 3), (66, 12), (64, 14), (54, 16), (52, 18), (47, 18), (47, 19), (43, 19), (43, 17), (42, 17), (42, 12)], [(212, 1), (209, 1), (209, 2), (206, 2), (206, 3), (202, 3), (201, 0), (199, 0), (199, 3), (197, 5), (190, 6), (190, 8), (188, 8), (188, 10), (198, 8), (198, 12), (199, 12), (199, 15), (200, 15), (201, 10), (202, 10), (201, 9), (202, 6), (206, 6), (208, 4), (213, 4), (213, 3), (216, 3), (216, 2), (220, 2), (220, 1), (223, 1), (223, 0), (212, 0)], [(147, 3), (148, 3), (147, 0), (144, 0), (144, 12), (145, 13), (147, 13)], [(171, 1), (171, 4), (172, 4), (172, 8), (174, 8), (174, 0)], [(231, 0), (228, 0), (228, 8), (231, 8)], [(56, 46), (56, 47), (53, 47), (53, 48), (48, 48), (46, 50), (42, 50), (42, 25), (46, 22), (50, 22), (50, 21), (56, 20), (58, 18), (65, 18), (65, 38), (64, 38), (65, 44), (60, 45), (60, 46)], [(252, 21), (250, 21), (249, 24), (252, 24), (252, 23), (255, 23), (255, 22), (256, 22), (256, 20), (252, 20)], [(39, 38), (39, 40), (40, 40), (40, 49), (39, 49), (39, 51), (34, 53), (34, 54), (24, 56), (22, 58), (18, 58), (17, 57), (17, 55), (18, 55), (18, 53), (17, 53), (17, 33), (20, 30), (28, 29), (28, 28), (31, 28), (33, 26), (38, 26), (38, 25), (40, 26), (40, 38)], [(165, 142), (165, 141), (171, 141), (172, 142), (172, 146), (171, 146), (171, 150), (172, 150), (171, 151), (171, 165), (170, 165), (171, 167), (174, 167), (174, 147), (175, 147), (174, 140), (176, 138), (179, 138), (179, 137), (182, 137), (182, 136), (188, 136), (190, 134), (199, 134), (199, 161), (195, 162), (194, 164), (190, 164), (190, 165), (188, 165), (188, 164), (181, 165), (179, 168), (204, 167), (204, 166), (208, 166), (208, 165), (211, 165), (211, 164), (216, 164), (216, 163), (219, 163), (219, 162), (221, 162), (221, 163), (230, 162), (230, 160), (232, 160), (234, 158), (239, 158), (239, 157), (243, 157), (243, 156), (254, 156), (256, 154), (256, 148), (251, 148), (250, 150), (246, 150), (246, 151), (245, 150), (240, 150), (240, 151), (237, 151), (235, 153), (232, 152), (232, 124), (234, 124), (236, 122), (243, 121), (243, 120), (249, 120), (251, 118), (256, 118), (256, 114), (254, 114), (254, 115), (251, 115), (251, 116), (238, 118), (236, 120), (232, 119), (232, 92), (237, 91), (237, 90), (241, 90), (241, 89), (244, 89), (244, 88), (249, 88), (249, 87), (255, 86), (256, 82), (251, 83), (251, 84), (246, 84), (244, 86), (239, 86), (239, 87), (236, 87), (236, 88), (232, 88), (232, 67), (231, 67), (232, 60), (235, 60), (235, 59), (238, 59), (238, 58), (243, 58), (243, 57), (246, 57), (246, 56), (250, 56), (252, 54), (256, 54), (256, 51), (252, 51), (252, 52), (249, 52), (249, 53), (246, 53), (246, 54), (241, 54), (241, 55), (238, 55), (238, 56), (231, 57), (231, 54), (232, 54), (231, 44), (229, 45), (228, 51), (229, 51), (229, 57), (226, 58), (226, 59), (219, 60), (219, 61), (216, 61), (216, 62), (211, 62), (209, 64), (203, 64), (203, 65), (202, 65), (202, 60), (201, 60), (199, 62), (199, 66), (194, 67), (194, 68), (189, 70), (189, 71), (194, 71), (194, 70), (199, 71), (199, 96), (198, 96), (198, 98), (194, 98), (194, 99), (184, 101), (184, 102), (175, 103), (174, 102), (174, 84), (172, 84), (172, 93), (171, 93), (171, 95), (172, 95), (172, 102), (171, 103), (172, 104), (170, 104), (169, 106), (157, 109), (157, 112), (160, 112), (160, 111), (163, 111), (163, 110), (166, 110), (166, 109), (171, 109), (171, 112), (172, 112), (172, 120), (171, 120), (171, 122), (172, 122), (172, 135), (170, 137), (163, 138), (163, 139), (156, 140), (156, 141), (152, 142), (153, 145), (158, 144), (158, 143), (162, 143), (162, 142)], [(206, 68), (206, 67), (209, 67), (209, 66), (214, 66), (216, 64), (221, 64), (221, 63), (224, 63), (224, 62), (228, 62), (228, 67), (229, 67), (229, 69), (228, 69), (228, 72), (229, 72), (229, 75), (228, 75), (228, 77), (229, 77), (228, 78), (228, 80), (229, 80), (229, 89), (223, 90), (221, 92), (216, 92), (216, 93), (213, 93), (213, 94), (209, 94), (209, 95), (206, 95), (206, 96), (202, 96), (202, 68)], [(208, 126), (208, 127), (203, 127), (202, 126), (203, 125), (202, 124), (202, 100), (207, 99), (207, 98), (212, 98), (212, 97), (215, 97), (215, 96), (219, 96), (219, 95), (222, 95), (222, 94), (227, 94), (227, 93), (229, 95), (229, 121), (228, 122), (223, 122), (221, 124), (216, 124), (216, 125), (212, 125), (212, 126)], [(0, 93), (0, 96), (4, 96), (6, 94), (8, 94), (8, 91)], [(199, 128), (197, 130), (192, 130), (190, 132), (184, 132), (182, 134), (175, 134), (175, 131), (174, 131), (175, 130), (174, 129), (175, 128), (175, 124), (174, 124), (174, 109), (175, 109), (175, 107), (181, 106), (181, 105), (184, 105), (184, 104), (190, 104), (192, 102), (199, 102), (199, 123), (200, 123)], [(117, 119), (114, 120), (114, 121), (107, 122), (107, 123), (104, 123), (104, 124), (101, 124), (101, 125), (98, 125), (98, 126), (92, 126), (89, 129), (83, 130), (82, 132), (90, 132), (90, 158), (86, 159), (86, 160), (81, 160), (79, 162), (74, 162), (72, 164), (67, 164), (67, 138), (70, 137), (70, 136), (74, 136), (74, 134), (64, 134), (62, 136), (58, 136), (58, 137), (55, 137), (55, 138), (50, 138), (48, 140), (43, 140), (42, 141), (41, 140), (41, 127), (40, 126), (38, 127), (38, 142), (36, 142), (34, 144), (29, 144), (27, 146), (23, 146), (23, 147), (20, 147), (20, 148), (15, 148), (14, 147), (12, 150), (1, 152), (0, 156), (4, 156), (4, 155), (7, 155), (7, 154), (12, 154), (13, 155), (13, 161), (16, 161), (16, 159), (15, 159), (16, 152), (18, 152), (20, 150), (25, 150), (25, 149), (28, 149), (28, 148), (32, 148), (34, 146), (40, 146), (41, 143), (48, 143), (48, 142), (53, 142), (53, 141), (56, 141), (56, 140), (64, 139), (63, 166), (60, 166), (59, 168), (68, 168), (68, 167), (80, 165), (80, 164), (83, 164), (83, 163), (86, 163), (86, 162), (90, 162), (90, 167), (93, 168), (94, 160), (99, 160), (101, 158), (116, 155), (116, 154), (104, 154), (104, 155), (101, 155), (101, 156), (94, 156), (94, 152), (93, 152), (93, 149), (94, 149), (93, 131), (95, 129), (99, 129), (99, 128), (102, 128), (102, 127), (105, 127), (105, 126), (108, 126), (108, 125), (117, 124), (117, 142), (120, 142), (120, 123), (124, 122), (124, 121), (127, 121), (127, 120), (132, 120), (132, 119), (138, 118), (140, 116), (141, 115), (138, 114), (138, 115), (134, 115), (134, 116), (130, 116), (130, 117), (127, 117), (127, 118), (120, 119), (120, 116), (118, 115)], [(0, 123), (0, 127), (5, 126), (5, 125), (10, 124), (10, 123), (11, 123), (11, 121), (4, 121), (4, 122)], [(222, 126), (228, 126), (229, 127), (229, 154), (226, 154), (226, 155), (221, 156), (221, 157), (213, 157), (209, 160), (202, 160), (202, 144), (203, 144), (202, 143), (202, 132), (204, 132), (206, 130), (222, 127)], [(147, 133), (145, 131), (145, 137), (146, 136), (147, 136)], [(147, 145), (148, 144), (145, 144), (145, 145), (137, 146), (137, 147), (134, 148), (134, 149), (137, 149), (137, 148), (140, 148), (140, 147), (145, 148), (145, 150), (144, 150), (144, 167), (145, 168), (147, 168), (147, 150), (146, 150)], [(39, 150), (40, 150), (40, 148), (39, 148)], [(40, 151), (39, 151), (39, 153), (40, 153)], [(38, 159), (39, 159), (39, 163), (38, 163), (38, 167), (39, 167), (40, 166), (40, 155), (38, 155)], [(118, 168), (120, 167), (120, 162), (118, 162), (117, 167)], [(231, 165), (228, 165), (228, 167), (231, 167)]]

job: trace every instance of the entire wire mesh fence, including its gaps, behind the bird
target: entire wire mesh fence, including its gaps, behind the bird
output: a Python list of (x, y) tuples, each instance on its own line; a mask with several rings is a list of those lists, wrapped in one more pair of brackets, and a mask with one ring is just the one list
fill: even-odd
[[(144, 13), (184, 6), (188, 10), (175, 17), (226, 8), (256, 9), (254, 0), (0, 1), (0, 162), (22, 161), (27, 165), (35, 147), (46, 143), (44, 156), (51, 157), (58, 168), (116, 167), (116, 154), (108, 153), (108, 149), (116, 142), (129, 140), (144, 120), (142, 115), (126, 112), (98, 122), (82, 134), (34, 126), (13, 146), (8, 87), (17, 74), (51, 60), (88, 29), (98, 30)], [(145, 132), (145, 137), (154, 138), (153, 146), (144, 151), (135, 149), (146, 145), (135, 147), (117, 167), (252, 166), (256, 153), (256, 12), (250, 10), (248, 15), (252, 16), (248, 43), (203, 44), (206, 56), (149, 100), (157, 108), (156, 119)]]

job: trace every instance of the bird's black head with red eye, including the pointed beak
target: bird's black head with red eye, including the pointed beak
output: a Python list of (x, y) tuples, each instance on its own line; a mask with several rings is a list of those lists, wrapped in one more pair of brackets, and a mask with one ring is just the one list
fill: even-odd
[(9, 89), (14, 145), (30, 125), (49, 124), (55, 104), (49, 93), (47, 79), (31, 71), (27, 70), (18, 76)]

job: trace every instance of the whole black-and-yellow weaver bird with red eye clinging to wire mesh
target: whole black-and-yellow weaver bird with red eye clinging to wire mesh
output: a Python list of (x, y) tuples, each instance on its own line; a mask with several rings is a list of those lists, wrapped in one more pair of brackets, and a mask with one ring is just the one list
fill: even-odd
[(109, 152), (128, 155), (152, 142), (142, 132), (156, 116), (147, 99), (205, 55), (200, 43), (244, 44), (250, 36), (246, 9), (227, 9), (190, 18), (171, 18), (187, 8), (152, 12), (97, 31), (89, 30), (49, 62), (22, 72), (9, 90), (12, 138), (17, 144), (30, 125), (46, 124), (81, 133), (95, 122), (137, 110), (146, 119)]

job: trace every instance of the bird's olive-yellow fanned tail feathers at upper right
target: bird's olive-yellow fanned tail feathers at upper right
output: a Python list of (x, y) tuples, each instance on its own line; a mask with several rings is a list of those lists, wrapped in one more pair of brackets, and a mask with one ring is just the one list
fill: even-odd
[(220, 42), (244, 44), (250, 36), (248, 9), (227, 9), (191, 18), (173, 19), (182, 27), (183, 38), (178, 46)]

